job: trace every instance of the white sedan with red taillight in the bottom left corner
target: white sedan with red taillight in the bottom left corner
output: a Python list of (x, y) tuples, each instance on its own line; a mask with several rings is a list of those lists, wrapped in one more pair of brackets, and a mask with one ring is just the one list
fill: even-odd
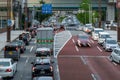
[(11, 58), (0, 58), (0, 76), (13, 78), (17, 71), (17, 62)]

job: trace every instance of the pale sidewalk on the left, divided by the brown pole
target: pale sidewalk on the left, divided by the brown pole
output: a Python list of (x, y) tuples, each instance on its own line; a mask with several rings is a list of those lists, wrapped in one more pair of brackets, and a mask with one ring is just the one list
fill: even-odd
[[(11, 31), (11, 42), (13, 40), (15, 40), (21, 33), (23, 33), (25, 31), (23, 30), (15, 30), (15, 31)], [(6, 42), (7, 41), (7, 32), (4, 32), (4, 33), (0, 33), (0, 51), (4, 48), (4, 46), (6, 44), (9, 44), (9, 42)]]

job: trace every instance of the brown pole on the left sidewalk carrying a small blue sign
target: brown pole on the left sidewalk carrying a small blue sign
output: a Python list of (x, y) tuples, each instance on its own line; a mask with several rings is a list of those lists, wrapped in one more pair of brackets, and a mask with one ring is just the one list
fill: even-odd
[[(10, 12), (11, 12), (11, 0), (7, 0), (7, 21), (10, 19)], [(7, 24), (7, 42), (11, 41), (11, 26)]]

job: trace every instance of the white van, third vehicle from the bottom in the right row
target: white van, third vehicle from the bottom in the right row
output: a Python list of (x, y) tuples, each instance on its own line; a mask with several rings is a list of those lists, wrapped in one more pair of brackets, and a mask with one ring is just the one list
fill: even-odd
[(98, 44), (102, 45), (106, 38), (110, 38), (110, 34), (107, 32), (98, 33)]

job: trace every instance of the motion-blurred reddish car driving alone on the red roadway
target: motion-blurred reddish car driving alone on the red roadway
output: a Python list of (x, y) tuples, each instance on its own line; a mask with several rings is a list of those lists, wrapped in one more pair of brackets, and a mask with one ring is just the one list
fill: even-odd
[(81, 47), (81, 46), (91, 47), (89, 36), (86, 34), (78, 34), (76, 44), (78, 47)]

